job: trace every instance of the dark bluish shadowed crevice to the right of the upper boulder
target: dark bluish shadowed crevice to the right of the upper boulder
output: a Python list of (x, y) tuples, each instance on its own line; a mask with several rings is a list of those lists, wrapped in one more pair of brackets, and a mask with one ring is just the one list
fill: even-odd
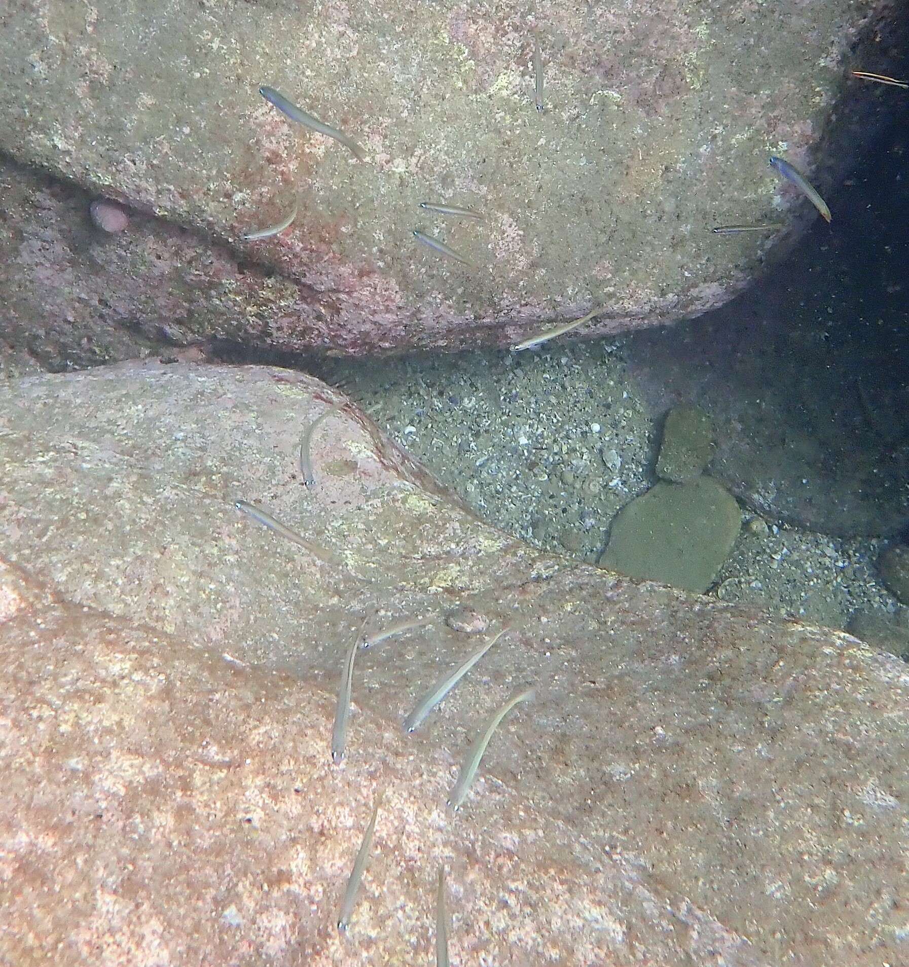
[(753, 510), (827, 534), (909, 524), (907, 122), (904, 98), (830, 193), (832, 226), (727, 306), (630, 344), (654, 413), (714, 416), (714, 474)]

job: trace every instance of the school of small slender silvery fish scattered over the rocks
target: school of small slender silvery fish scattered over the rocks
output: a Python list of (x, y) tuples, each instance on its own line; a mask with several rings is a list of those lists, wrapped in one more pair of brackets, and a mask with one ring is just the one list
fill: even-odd
[[(543, 58), (540, 35), (536, 29), (533, 32), (532, 49), (534, 103), (537, 110), (542, 112), (545, 109), (543, 100)], [(887, 76), (886, 74), (853, 71), (852, 75), (859, 79), (876, 81), (877, 83), (894, 87), (909, 87), (909, 83), (897, 80), (894, 77)], [(262, 97), (266, 99), (266, 101), (273, 104), (281, 113), (290, 118), (292, 121), (303, 125), (311, 131), (334, 138), (339, 144), (347, 148), (347, 150), (350, 151), (350, 153), (358, 161), (367, 161), (367, 153), (360, 146), (360, 144), (348, 134), (337, 130), (337, 128), (331, 127), (323, 121), (320, 121), (314, 115), (309, 114), (307, 111), (289, 101), (283, 94), (279, 93), (279, 91), (272, 87), (262, 86), (259, 88), (259, 92)], [(817, 209), (818, 213), (825, 221), (832, 221), (831, 211), (827, 206), (827, 203), (813, 187), (813, 185), (811, 185), (811, 183), (807, 180), (806, 176), (794, 164), (777, 156), (772, 156), (769, 161), (771, 167), (773, 167), (782, 178), (786, 179), (805, 195), (806, 199), (811, 202), (811, 204)], [(280, 220), (276, 225), (250, 231), (244, 234), (242, 239), (247, 242), (252, 242), (279, 235), (281, 232), (289, 228), (296, 219), (298, 206), (299, 201), (295, 202), (290, 214), (286, 218)], [(448, 201), (422, 201), (419, 203), (419, 207), (424, 212), (447, 218), (468, 219), (476, 222), (484, 221), (484, 214), (482, 212)], [(746, 232), (775, 232), (784, 227), (785, 225), (783, 222), (774, 221), (754, 224), (745, 223), (717, 225), (712, 229), (712, 231), (716, 235), (737, 235)], [(431, 249), (438, 254), (452, 259), (462, 265), (472, 268), (477, 267), (476, 262), (457, 250), (451, 248), (438, 236), (429, 234), (421, 228), (415, 228), (413, 230), (413, 235), (414, 238), (423, 244), (427, 249)], [(573, 329), (576, 329), (582, 326), (584, 323), (589, 322), (591, 319), (594, 319), (596, 316), (601, 315), (604, 311), (604, 308), (593, 308), (586, 315), (581, 316), (572, 322), (544, 330), (536, 336), (532, 336), (515, 343), (512, 346), (512, 349), (513, 351), (520, 351), (539, 346), (549, 339), (571, 332)], [(322, 424), (333, 413), (337, 412), (338, 409), (339, 406), (335, 405), (323, 410), (318, 417), (308, 424), (301, 436), (299, 469), (301, 481), (306, 486), (312, 486), (316, 482), (310, 454), (312, 434), (320, 424)], [(304, 550), (308, 551), (309, 554), (323, 563), (329, 565), (340, 565), (342, 563), (332, 552), (308, 541), (307, 538), (304, 538), (296, 531), (293, 531), (286, 525), (280, 523), (279, 520), (272, 516), (271, 513), (268, 513), (262, 508), (249, 504), (243, 500), (238, 500), (235, 506), (238, 510), (246, 513), (258, 523), (268, 527), (280, 537), (283, 537), (285, 540), (293, 542), (302, 547)], [(347, 724), (350, 718), (350, 706), (354, 684), (354, 664), (357, 652), (360, 649), (374, 647), (380, 642), (386, 641), (398, 634), (403, 634), (430, 626), (434, 623), (434, 621), (435, 619), (432, 616), (407, 617), (391, 626), (381, 630), (374, 630), (368, 634), (364, 634), (364, 630), (361, 628), (352, 639), (347, 647), (340, 669), (335, 724), (331, 737), (331, 759), (334, 764), (340, 764), (346, 754)], [(454, 689), (455, 686), (457, 686), (458, 683), (467, 676), (468, 672), (470, 672), (470, 670), (481, 659), (483, 659), (484, 655), (489, 651), (489, 649), (492, 648), (499, 638), (502, 637), (502, 635), (504, 635), (508, 630), (509, 627), (506, 625), (502, 629), (498, 630), (495, 634), (491, 635), (480, 648), (461, 661), (460, 664), (454, 667), (454, 669), (445, 675), (438, 683), (428, 689), (423, 697), (421, 697), (417, 702), (417, 705), (413, 711), (407, 716), (407, 718), (404, 719), (404, 730), (407, 733), (412, 733), (414, 730), (419, 728), (419, 726), (430, 715), (433, 709), (444, 701), (449, 692), (452, 691), (452, 689)], [(486, 747), (489, 745), (493, 734), (502, 723), (502, 720), (506, 718), (506, 716), (508, 716), (517, 705), (523, 702), (532, 701), (534, 697), (535, 689), (524, 689), (514, 693), (513, 696), (506, 701), (505, 704), (493, 712), (490, 718), (488, 718), (488, 720), (485, 722), (484, 728), (478, 733), (476, 739), (465, 756), (460, 773), (455, 781), (454, 788), (448, 799), (448, 806), (453, 812), (456, 813), (466, 801), (474, 778), (476, 777), (480, 768)], [(366, 833), (364, 834), (361, 845), (357, 851), (350, 877), (347, 881), (347, 886), (341, 899), (337, 916), (337, 929), (341, 933), (346, 932), (356, 909), (357, 896), (360, 891), (363, 876), (367, 869), (369, 856), (372, 850), (372, 841), (375, 834), (375, 827), (379, 816), (379, 808), (381, 806), (382, 798), (383, 793), (376, 795), (372, 812), (367, 823)], [(448, 967), (448, 913), (446, 909), (444, 867), (440, 867), (438, 870), (436, 890), (435, 949), (437, 967)]]

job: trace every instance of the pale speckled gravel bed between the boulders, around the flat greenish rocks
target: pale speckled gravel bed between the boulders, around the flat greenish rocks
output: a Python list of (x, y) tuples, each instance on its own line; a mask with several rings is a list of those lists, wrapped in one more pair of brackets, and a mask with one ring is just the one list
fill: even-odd
[[(683, 329), (667, 338), (684, 339)], [(333, 360), (318, 372), (481, 517), (593, 564), (615, 513), (656, 483), (662, 414), (648, 412), (633, 375), (643, 341), (630, 334), (380, 366)], [(896, 609), (875, 577), (880, 540), (743, 513), (746, 526), (709, 594), (834, 628), (855, 613)]]

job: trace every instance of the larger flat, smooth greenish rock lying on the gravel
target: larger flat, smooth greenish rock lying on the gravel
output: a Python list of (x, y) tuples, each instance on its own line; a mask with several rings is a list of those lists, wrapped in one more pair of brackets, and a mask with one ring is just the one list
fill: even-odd
[(701, 593), (710, 587), (741, 526), (735, 498), (709, 477), (656, 484), (616, 515), (600, 564)]

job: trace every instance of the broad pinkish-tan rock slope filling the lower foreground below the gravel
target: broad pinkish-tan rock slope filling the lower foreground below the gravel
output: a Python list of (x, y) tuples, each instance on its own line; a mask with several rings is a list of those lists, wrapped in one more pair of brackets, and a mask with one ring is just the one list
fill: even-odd
[[(0, 409), (0, 960), (906, 959), (909, 675), (847, 635), (543, 556), (277, 369), (23, 377)], [(257, 526), (267, 507), (338, 566)], [(416, 698), (510, 625), (414, 735)], [(431, 628), (358, 656), (364, 619)], [(454, 627), (453, 627), (454, 626)], [(454, 816), (478, 723), (507, 719)], [(378, 791), (363, 890), (337, 907)]]

